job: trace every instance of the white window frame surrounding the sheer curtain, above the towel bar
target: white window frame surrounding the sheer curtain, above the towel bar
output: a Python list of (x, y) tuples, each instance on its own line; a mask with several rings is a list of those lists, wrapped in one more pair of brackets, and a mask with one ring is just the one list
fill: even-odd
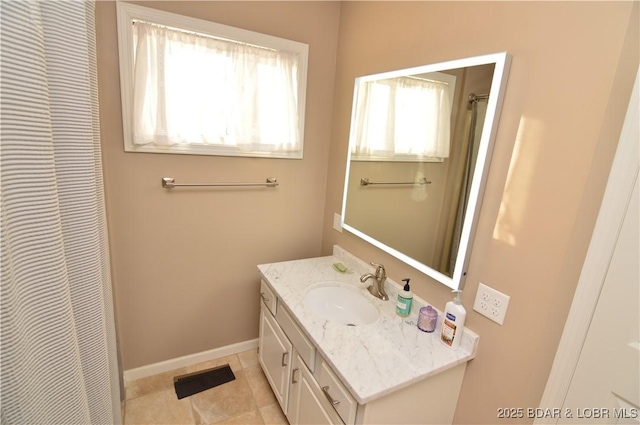
[[(118, 50), (120, 59), (120, 94), (125, 152), (169, 153), (187, 155), (217, 155), (258, 158), (302, 159), (304, 155), (304, 121), (309, 46), (293, 40), (231, 27), (203, 19), (178, 15), (122, 1), (116, 2), (118, 23)], [(300, 58), (298, 67), (298, 131), (300, 150), (295, 152), (243, 151), (238, 147), (222, 145), (135, 145), (133, 143), (133, 21), (140, 20), (175, 27), (222, 39), (253, 44), (275, 50), (291, 52)]]

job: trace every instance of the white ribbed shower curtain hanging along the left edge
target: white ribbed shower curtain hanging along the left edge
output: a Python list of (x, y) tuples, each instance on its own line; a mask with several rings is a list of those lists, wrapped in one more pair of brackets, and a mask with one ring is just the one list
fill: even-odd
[(119, 423), (94, 4), (0, 8), (2, 424)]

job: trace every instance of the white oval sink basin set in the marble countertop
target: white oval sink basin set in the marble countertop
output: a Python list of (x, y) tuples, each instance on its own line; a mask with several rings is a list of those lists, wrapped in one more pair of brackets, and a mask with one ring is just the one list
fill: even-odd
[(376, 306), (357, 288), (335, 285), (312, 288), (305, 294), (304, 304), (313, 314), (348, 326), (367, 325), (379, 316)]

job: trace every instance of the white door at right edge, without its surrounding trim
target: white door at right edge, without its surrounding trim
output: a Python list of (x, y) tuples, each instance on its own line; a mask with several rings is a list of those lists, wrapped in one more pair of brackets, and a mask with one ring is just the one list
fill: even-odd
[(558, 423), (640, 423), (638, 203), (636, 178)]

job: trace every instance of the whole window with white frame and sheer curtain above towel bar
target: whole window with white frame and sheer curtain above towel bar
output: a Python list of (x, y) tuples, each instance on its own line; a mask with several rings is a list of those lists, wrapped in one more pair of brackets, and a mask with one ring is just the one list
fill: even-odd
[(302, 158), (306, 44), (117, 6), (126, 151)]

